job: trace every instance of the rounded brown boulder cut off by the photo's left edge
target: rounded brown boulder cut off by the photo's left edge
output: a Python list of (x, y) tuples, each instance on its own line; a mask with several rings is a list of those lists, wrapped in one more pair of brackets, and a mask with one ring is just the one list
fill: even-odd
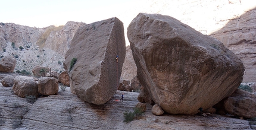
[(14, 56), (4, 56), (0, 61), (0, 72), (13, 72), (16, 65)]

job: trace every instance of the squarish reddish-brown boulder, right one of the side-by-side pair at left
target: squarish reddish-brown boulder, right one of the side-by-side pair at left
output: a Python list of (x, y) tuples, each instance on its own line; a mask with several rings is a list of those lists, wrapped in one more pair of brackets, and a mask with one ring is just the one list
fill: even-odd
[(38, 80), (38, 92), (44, 96), (58, 93), (58, 80), (54, 77), (42, 77)]

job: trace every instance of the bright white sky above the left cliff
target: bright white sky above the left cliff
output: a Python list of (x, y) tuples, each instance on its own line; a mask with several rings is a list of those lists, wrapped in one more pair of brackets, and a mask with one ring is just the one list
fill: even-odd
[(0, 0), (2, 5), (0, 22), (39, 28), (51, 25), (60, 26), (67, 21), (89, 24), (127, 14), (135, 1)]

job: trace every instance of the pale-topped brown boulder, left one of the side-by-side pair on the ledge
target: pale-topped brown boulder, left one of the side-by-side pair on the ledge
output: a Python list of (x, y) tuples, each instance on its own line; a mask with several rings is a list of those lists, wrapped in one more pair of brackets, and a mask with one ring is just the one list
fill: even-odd
[(20, 97), (39, 96), (38, 84), (33, 77), (17, 76), (14, 78), (13, 84), (14, 94)]

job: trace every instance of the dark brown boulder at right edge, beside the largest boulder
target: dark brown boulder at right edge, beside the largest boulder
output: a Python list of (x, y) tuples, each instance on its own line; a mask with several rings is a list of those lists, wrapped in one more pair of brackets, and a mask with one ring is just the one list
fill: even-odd
[(255, 118), (256, 95), (238, 88), (224, 100), (224, 108), (231, 115)]

